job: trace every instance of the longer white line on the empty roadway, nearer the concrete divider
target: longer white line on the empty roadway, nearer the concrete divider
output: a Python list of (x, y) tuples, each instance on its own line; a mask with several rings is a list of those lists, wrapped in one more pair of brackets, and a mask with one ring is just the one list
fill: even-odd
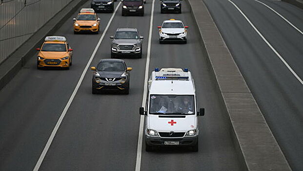
[(231, 0), (228, 0), (232, 3), (238, 11), (242, 14), (242, 16), (249, 22), (249, 24), (255, 29), (255, 31), (259, 34), (259, 36), (263, 39), (263, 41), (271, 48), (272, 51), (280, 58), (280, 60), (285, 64), (285, 66), (290, 70), (290, 72), (297, 78), (297, 80), (303, 85), (302, 79), (298, 76), (298, 74), (287, 64), (287, 62), (283, 59), (283, 57), (277, 52), (277, 50), (264, 38), (264, 36), (260, 33), (260, 31), (255, 27), (255, 25), (245, 16), (242, 10)]

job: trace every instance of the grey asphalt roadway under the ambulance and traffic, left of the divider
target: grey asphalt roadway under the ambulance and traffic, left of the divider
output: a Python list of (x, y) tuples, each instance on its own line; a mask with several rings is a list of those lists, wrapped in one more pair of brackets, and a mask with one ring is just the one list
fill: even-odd
[[(77, 15), (75, 13), (55, 33), (65, 36), (74, 49), (72, 67), (69, 70), (37, 70), (36, 56), (33, 56), (0, 90), (1, 171), (32, 171), (35, 166), (41, 171), (133, 171), (136, 166), (142, 171), (240, 170), (227, 113), (202, 54), (201, 39), (188, 3), (182, 1), (182, 14), (160, 14), (160, 3), (159, 0), (148, 0), (144, 17), (122, 17), (121, 6), (114, 15), (98, 14), (101, 18), (99, 35), (74, 35), (72, 18)], [(118, 4), (116, 2), (115, 7)], [(89, 1), (81, 6), (84, 7), (89, 7)], [(150, 25), (152, 15), (153, 24)], [(157, 26), (171, 18), (180, 19), (189, 26), (187, 44), (159, 44)], [(107, 24), (108, 30), (98, 46)], [(93, 95), (92, 72), (86, 72), (86, 65), (95, 66), (100, 59), (110, 57), (109, 36), (118, 27), (138, 28), (144, 36), (142, 59), (125, 59), (126, 64), (133, 67), (130, 93)], [(148, 36), (150, 28), (151, 37)], [(148, 47), (150, 54), (147, 54)], [(96, 53), (93, 53), (95, 48)], [(149, 61), (146, 61), (147, 55)], [(147, 70), (146, 62), (149, 62)], [(199, 118), (199, 152), (186, 149), (145, 152), (144, 140), (142, 150), (137, 151), (140, 149), (139, 107), (142, 105), (144, 76), (155, 67), (186, 67), (193, 73), (198, 105), (205, 107), (206, 112)], [(83, 70), (84, 77), (81, 78)], [(79, 89), (73, 96), (76, 87)], [(63, 110), (69, 103), (65, 114)], [(45, 145), (53, 130), (57, 130), (55, 126), (62, 113), (64, 118), (48, 148)], [(138, 154), (141, 155), (138, 157)]]

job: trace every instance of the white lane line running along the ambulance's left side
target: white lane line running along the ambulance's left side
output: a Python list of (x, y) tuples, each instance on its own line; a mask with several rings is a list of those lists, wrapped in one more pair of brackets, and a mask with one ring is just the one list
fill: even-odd
[[(148, 68), (149, 68), (149, 58), (150, 58), (150, 49), (151, 49), (151, 40), (152, 40), (152, 31), (153, 31), (153, 20), (154, 20), (154, 6), (155, 6), (155, 0), (153, 0), (153, 2), (152, 2), (152, 10), (151, 10), (150, 24), (149, 24), (148, 47), (147, 47), (147, 57), (146, 57), (146, 65), (145, 65), (145, 78), (144, 78), (144, 91), (143, 91), (142, 107), (145, 107), (145, 103), (146, 103)], [(142, 139), (143, 139), (143, 128), (144, 128), (143, 124), (144, 124), (144, 116), (141, 115), (135, 171), (140, 171), (141, 170)]]

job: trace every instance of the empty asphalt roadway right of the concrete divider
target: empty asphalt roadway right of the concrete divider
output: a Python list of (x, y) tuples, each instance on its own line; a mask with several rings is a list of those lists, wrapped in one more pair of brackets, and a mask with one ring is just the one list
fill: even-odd
[[(255, 0), (232, 0), (303, 79), (303, 34)], [(303, 31), (303, 10), (261, 0)], [(278, 144), (303, 169), (303, 85), (228, 0), (204, 0)]]

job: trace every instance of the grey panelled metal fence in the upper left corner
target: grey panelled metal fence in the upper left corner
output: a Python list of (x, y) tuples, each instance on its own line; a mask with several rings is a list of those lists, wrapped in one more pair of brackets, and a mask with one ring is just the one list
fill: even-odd
[(72, 0), (0, 0), (0, 63)]

